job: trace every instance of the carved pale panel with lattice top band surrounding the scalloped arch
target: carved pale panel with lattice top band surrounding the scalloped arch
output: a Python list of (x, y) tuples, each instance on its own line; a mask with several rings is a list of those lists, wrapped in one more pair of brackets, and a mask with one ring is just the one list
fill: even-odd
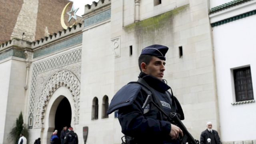
[(60, 70), (68, 70), (80, 80), (81, 48), (32, 63), (31, 66), (29, 114), (31, 114), (34, 123), (36, 112), (40, 111), (40, 108), (36, 106), (41, 96), (42, 88), (51, 76)]

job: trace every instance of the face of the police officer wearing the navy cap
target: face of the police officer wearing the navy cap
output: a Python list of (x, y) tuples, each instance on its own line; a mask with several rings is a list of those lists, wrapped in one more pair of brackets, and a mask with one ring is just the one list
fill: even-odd
[(156, 56), (152, 56), (152, 60), (149, 62), (148, 65), (145, 64), (145, 67), (142, 67), (142, 70), (145, 74), (149, 74), (151, 76), (158, 78), (159, 80), (162, 80), (165, 70), (164, 65), (164, 60), (161, 60)]

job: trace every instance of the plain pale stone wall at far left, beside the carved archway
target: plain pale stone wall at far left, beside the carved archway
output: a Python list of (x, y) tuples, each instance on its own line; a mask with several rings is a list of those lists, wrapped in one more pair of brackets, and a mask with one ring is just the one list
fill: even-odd
[(25, 78), (26, 64), (20, 58), (8, 58), (0, 63), (1, 72), (1, 144), (9, 144), (10, 130), (16, 124), (20, 112), (26, 124)]

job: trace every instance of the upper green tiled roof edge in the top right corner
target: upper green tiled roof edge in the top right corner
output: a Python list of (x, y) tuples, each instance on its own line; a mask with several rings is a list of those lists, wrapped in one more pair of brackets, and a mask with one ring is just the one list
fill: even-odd
[(226, 8), (230, 8), (232, 6), (236, 6), (238, 4), (242, 4), (244, 2), (249, 2), (249, 1), (251, 1), (251, 0), (233, 0), (232, 2), (228, 2), (228, 3), (222, 4), (220, 6), (216, 6), (214, 8), (211, 8), (209, 14), (224, 10)]

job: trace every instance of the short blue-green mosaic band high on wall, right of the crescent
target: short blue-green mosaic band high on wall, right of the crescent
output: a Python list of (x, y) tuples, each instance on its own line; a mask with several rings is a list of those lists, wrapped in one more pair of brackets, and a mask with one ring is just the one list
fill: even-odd
[(109, 19), (110, 17), (111, 17), (111, 9), (105, 10), (103, 12), (95, 14), (94, 16), (85, 18), (84, 19), (84, 27), (91, 26), (93, 24), (102, 22), (104, 20)]

